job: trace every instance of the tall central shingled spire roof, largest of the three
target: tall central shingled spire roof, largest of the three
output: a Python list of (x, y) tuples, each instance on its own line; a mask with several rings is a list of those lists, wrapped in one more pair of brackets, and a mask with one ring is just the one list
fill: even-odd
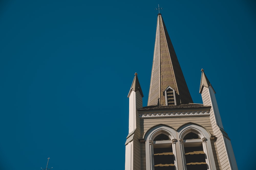
[[(168, 95), (166, 93), (167, 88), (169, 88), (172, 93), (172, 90), (174, 90), (175, 93)], [(175, 100), (176, 98), (175, 104), (177, 105), (193, 103), (162, 15), (158, 14), (154, 59), (147, 105), (157, 105), (159, 100), (159, 104), (165, 106), (166, 103), (169, 103), (165, 101), (167, 95), (172, 97), (170, 99)]]

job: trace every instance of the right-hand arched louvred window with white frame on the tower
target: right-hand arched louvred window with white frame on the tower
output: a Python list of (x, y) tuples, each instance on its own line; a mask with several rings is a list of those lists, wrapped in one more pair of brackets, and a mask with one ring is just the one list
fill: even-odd
[(187, 124), (179, 129), (178, 133), (184, 169), (216, 169), (210, 163), (214, 163), (214, 157), (207, 130), (201, 126)]

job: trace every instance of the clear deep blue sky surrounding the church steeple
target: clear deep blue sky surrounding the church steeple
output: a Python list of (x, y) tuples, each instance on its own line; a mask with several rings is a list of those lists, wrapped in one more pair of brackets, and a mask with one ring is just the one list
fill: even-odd
[[(255, 161), (253, 0), (0, 1), (0, 169), (124, 169), (127, 95), (147, 105), (157, 4), (194, 103), (201, 68), (239, 169)], [(252, 166), (253, 165), (253, 166)]]

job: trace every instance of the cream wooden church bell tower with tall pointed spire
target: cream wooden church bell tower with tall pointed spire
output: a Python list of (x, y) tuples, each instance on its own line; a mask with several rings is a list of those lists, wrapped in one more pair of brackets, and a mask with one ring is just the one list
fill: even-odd
[(199, 93), (203, 104), (193, 103), (162, 15), (158, 14), (147, 106), (142, 106), (137, 73), (128, 94), (125, 170), (238, 169), (215, 90), (203, 69)]

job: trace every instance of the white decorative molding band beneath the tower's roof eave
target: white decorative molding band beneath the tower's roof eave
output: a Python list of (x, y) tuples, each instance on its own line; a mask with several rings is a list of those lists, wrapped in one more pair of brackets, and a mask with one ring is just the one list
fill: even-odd
[(169, 117), (169, 116), (191, 116), (191, 115), (210, 115), (210, 111), (188, 111), (188, 112), (163, 112), (163, 113), (140, 113), (140, 118), (144, 117)]

